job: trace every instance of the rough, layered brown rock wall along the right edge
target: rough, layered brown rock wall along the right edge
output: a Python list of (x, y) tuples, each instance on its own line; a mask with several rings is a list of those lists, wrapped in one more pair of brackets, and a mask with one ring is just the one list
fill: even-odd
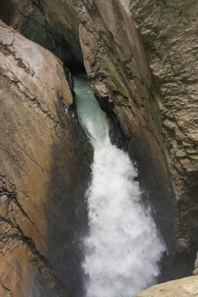
[[(192, 262), (198, 249), (198, 1), (130, 0), (130, 11), (158, 87), (164, 147), (185, 228), (176, 238)], [(186, 269), (191, 265), (187, 260)]]

